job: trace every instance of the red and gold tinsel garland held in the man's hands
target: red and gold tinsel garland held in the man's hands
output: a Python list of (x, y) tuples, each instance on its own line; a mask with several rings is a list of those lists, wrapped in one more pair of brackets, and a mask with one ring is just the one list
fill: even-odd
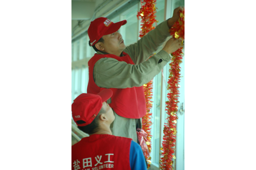
[[(177, 22), (174, 23), (172, 28), (170, 29), (170, 34), (172, 37), (181, 39), (182, 43), (185, 36), (185, 24), (184, 24), (184, 17), (185, 11), (180, 11), (180, 18)], [(178, 83), (180, 82), (180, 63), (182, 63), (182, 47), (172, 53), (172, 62), (170, 63), (170, 76), (168, 80), (167, 90), (170, 90), (167, 94), (168, 101), (166, 101), (166, 111), (168, 117), (166, 118), (167, 123), (164, 125), (164, 137), (162, 142), (162, 150), (161, 152), (161, 160), (160, 160), (160, 167), (161, 170), (174, 170), (173, 166), (173, 159), (175, 157), (175, 143), (176, 143), (176, 123), (178, 117), (176, 112), (178, 111)]]

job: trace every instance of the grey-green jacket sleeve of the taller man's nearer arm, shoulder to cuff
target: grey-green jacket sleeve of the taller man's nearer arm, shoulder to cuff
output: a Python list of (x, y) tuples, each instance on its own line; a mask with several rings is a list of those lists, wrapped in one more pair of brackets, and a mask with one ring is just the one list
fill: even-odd
[(101, 58), (94, 66), (94, 81), (97, 86), (104, 88), (139, 87), (160, 73), (170, 59), (171, 56), (164, 50), (137, 65), (117, 61), (114, 58)]

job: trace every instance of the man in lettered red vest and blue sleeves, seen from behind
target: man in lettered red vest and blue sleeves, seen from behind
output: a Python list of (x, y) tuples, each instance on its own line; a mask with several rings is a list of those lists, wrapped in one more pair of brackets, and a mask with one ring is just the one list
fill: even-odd
[(72, 117), (84, 137), (72, 146), (72, 170), (146, 170), (141, 147), (131, 138), (112, 135), (110, 124), (114, 113), (106, 101), (112, 96), (110, 89), (97, 95), (81, 94), (72, 104)]

